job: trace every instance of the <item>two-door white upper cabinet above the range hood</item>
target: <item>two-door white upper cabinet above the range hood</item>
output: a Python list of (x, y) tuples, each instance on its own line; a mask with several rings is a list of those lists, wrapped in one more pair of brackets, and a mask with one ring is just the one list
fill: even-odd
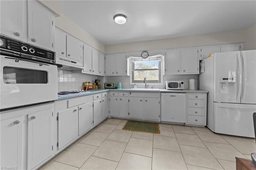
[(55, 34), (56, 56), (82, 66), (82, 42), (58, 28)]

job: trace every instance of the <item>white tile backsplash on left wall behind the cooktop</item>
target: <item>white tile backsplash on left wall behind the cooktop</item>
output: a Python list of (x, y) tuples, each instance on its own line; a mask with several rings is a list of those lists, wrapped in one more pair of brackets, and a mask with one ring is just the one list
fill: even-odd
[(95, 79), (100, 80), (100, 85), (102, 85), (103, 88), (103, 76), (84, 74), (78, 71), (58, 69), (58, 92), (80, 90), (85, 81), (90, 81), (93, 84)]

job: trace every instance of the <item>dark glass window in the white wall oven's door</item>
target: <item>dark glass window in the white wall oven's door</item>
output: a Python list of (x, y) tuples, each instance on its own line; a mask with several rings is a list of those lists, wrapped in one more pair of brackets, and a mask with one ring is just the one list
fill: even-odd
[(23, 69), (16, 67), (3, 68), (4, 83), (11, 84), (46, 84), (48, 72), (42, 70)]

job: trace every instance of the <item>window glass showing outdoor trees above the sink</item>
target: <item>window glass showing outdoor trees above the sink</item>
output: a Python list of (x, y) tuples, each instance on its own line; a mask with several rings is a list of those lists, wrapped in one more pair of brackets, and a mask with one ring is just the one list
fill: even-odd
[(135, 61), (134, 81), (159, 81), (159, 61)]

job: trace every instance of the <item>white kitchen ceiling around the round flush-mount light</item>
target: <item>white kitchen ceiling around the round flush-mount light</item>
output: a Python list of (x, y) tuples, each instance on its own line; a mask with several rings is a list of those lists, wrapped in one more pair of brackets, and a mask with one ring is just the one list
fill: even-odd
[[(256, 23), (256, 1), (63, 0), (62, 14), (104, 45), (242, 30)], [(114, 22), (124, 14), (123, 25)]]

